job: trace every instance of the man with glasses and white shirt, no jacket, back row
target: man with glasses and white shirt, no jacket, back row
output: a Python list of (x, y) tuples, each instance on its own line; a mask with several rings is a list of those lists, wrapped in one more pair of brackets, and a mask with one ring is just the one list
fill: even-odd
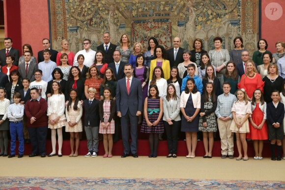
[(78, 66), (77, 57), (80, 54), (83, 54), (83, 56), (84, 56), (84, 63), (83, 64), (85, 66), (90, 67), (91, 65), (94, 64), (96, 52), (91, 50), (91, 41), (89, 39), (85, 39), (83, 41), (83, 47), (84, 47), (84, 50), (77, 52), (77, 54), (75, 55), (74, 61), (73, 61), (73, 66)]

